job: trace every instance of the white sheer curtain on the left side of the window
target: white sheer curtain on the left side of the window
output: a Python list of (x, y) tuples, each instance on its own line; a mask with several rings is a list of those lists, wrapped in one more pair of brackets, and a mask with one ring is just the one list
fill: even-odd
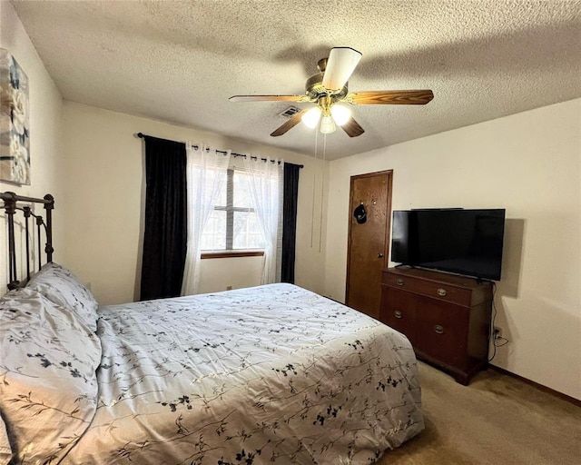
[(187, 144), (187, 203), (188, 203), (188, 250), (183, 270), (182, 295), (198, 291), (200, 283), (200, 243), (202, 232), (208, 223), (214, 203), (226, 185), (230, 151), (217, 153), (198, 145), (195, 149)]

